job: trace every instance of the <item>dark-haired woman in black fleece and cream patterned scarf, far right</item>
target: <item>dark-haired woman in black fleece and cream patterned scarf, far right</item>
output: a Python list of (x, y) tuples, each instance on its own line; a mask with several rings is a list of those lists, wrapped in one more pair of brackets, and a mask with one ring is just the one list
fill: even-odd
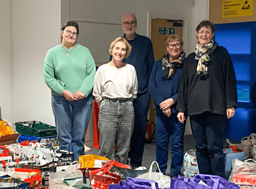
[(204, 20), (196, 32), (195, 51), (183, 65), (178, 119), (190, 116), (199, 172), (224, 178), (223, 131), (237, 106), (236, 77), (228, 51), (214, 42), (215, 25)]

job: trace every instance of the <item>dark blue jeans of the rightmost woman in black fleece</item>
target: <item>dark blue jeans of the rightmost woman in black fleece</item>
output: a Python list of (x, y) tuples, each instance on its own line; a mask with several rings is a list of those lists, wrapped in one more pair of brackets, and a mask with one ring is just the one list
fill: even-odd
[(190, 116), (196, 142), (196, 156), (200, 174), (224, 178), (223, 131), (226, 115), (204, 112)]

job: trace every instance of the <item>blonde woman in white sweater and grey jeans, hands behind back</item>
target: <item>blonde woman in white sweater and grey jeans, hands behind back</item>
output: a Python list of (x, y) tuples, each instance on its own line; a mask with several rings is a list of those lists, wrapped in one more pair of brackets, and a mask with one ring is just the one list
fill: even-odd
[(127, 164), (134, 125), (132, 101), (138, 91), (135, 68), (122, 62), (130, 51), (131, 46), (126, 39), (116, 38), (109, 48), (112, 60), (98, 68), (93, 84), (93, 96), (100, 109), (98, 155), (110, 159), (115, 144), (115, 161), (123, 164)]

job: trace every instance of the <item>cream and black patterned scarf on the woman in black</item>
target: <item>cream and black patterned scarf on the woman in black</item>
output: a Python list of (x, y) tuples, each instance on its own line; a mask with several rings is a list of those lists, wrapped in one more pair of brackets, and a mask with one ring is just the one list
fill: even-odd
[(207, 64), (211, 60), (209, 55), (216, 49), (217, 43), (214, 43), (212, 39), (208, 44), (203, 47), (200, 46), (199, 42), (196, 44), (195, 48), (195, 60), (198, 60), (196, 74), (200, 76), (208, 76)]

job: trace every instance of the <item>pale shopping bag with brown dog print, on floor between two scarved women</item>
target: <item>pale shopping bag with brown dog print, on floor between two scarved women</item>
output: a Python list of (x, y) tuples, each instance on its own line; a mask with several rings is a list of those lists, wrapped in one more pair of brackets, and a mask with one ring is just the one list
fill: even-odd
[(183, 175), (187, 178), (192, 178), (196, 174), (199, 174), (196, 150), (190, 149), (184, 155)]

